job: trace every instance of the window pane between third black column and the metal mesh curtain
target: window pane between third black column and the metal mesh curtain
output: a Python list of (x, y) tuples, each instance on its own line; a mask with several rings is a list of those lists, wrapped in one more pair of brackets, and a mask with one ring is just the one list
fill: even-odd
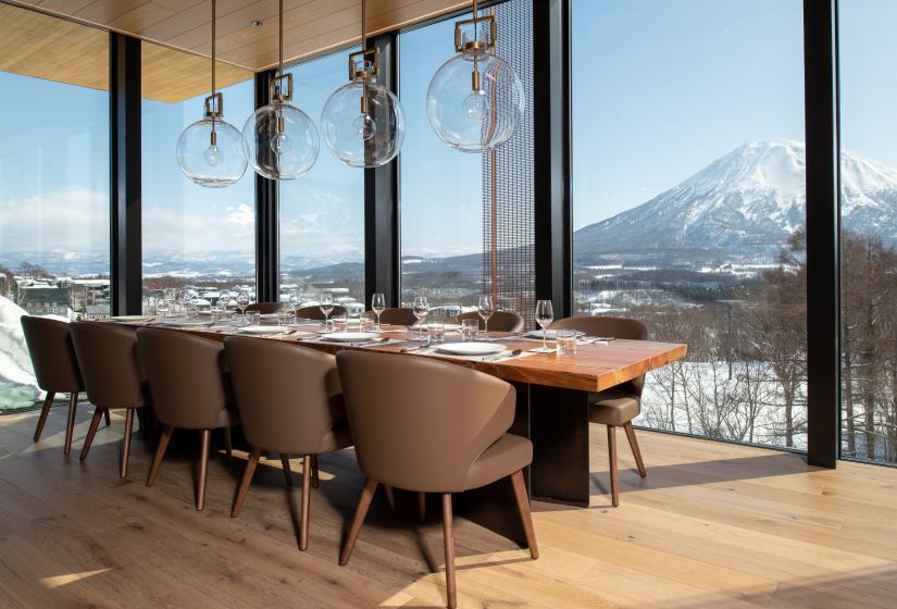
[[(460, 18), (460, 17), (459, 17)], [(401, 151), (401, 301), (475, 306), (483, 285), (483, 159), (459, 152), (426, 115), (433, 74), (454, 52), (454, 22), (401, 35), (401, 100), (408, 136)]]

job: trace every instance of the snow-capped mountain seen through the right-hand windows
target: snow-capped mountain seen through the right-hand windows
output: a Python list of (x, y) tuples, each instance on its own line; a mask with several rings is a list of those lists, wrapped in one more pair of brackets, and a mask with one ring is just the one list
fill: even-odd
[[(845, 227), (897, 241), (897, 170), (842, 153)], [(771, 256), (805, 223), (801, 141), (745, 144), (650, 201), (574, 234), (576, 258)]]

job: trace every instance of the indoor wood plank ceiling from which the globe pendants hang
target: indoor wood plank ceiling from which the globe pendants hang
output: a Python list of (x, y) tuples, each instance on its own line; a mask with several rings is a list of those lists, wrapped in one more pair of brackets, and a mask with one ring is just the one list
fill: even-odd
[[(7, 1), (200, 55), (211, 54), (210, 0)], [(217, 0), (219, 59), (252, 72), (276, 65), (277, 5), (277, 0)], [(470, 5), (470, 0), (367, 0), (367, 30), (395, 30)], [(253, 21), (262, 25), (254, 26)], [(361, 0), (284, 0), (286, 63), (358, 44), (360, 37)]]

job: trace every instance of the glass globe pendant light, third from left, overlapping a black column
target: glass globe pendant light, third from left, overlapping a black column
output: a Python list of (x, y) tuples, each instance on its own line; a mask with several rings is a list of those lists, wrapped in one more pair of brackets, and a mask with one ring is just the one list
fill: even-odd
[(350, 167), (377, 167), (396, 158), (404, 141), (399, 99), (377, 83), (379, 50), (367, 48), (366, 2), (361, 2), (361, 50), (349, 55), (349, 83), (321, 112), (324, 142)]

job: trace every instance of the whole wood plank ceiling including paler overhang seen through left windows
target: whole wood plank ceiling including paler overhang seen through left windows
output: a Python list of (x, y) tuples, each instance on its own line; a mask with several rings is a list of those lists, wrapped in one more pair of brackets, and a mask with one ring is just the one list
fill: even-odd
[[(369, 0), (367, 29), (409, 27), (470, 3)], [(220, 87), (277, 64), (277, 0), (219, 0)], [(208, 94), (210, 0), (0, 0), (0, 71), (107, 89), (104, 30), (155, 42), (144, 45), (145, 98), (171, 103)], [(285, 63), (357, 45), (360, 36), (361, 0), (284, 0)]]

